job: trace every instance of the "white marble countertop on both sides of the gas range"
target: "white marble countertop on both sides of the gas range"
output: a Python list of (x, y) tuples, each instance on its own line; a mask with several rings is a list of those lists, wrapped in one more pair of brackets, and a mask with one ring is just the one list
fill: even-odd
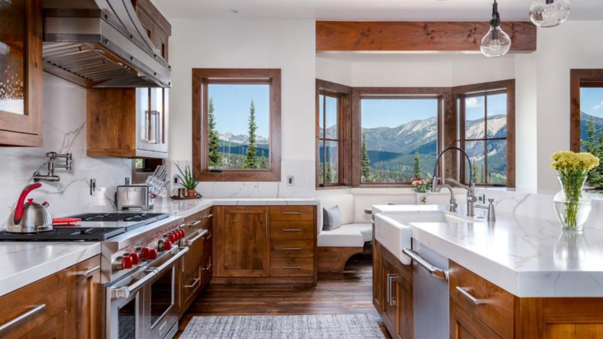
[[(188, 217), (216, 205), (315, 204), (317, 204), (315, 198), (157, 199), (154, 208), (150, 212)], [(95, 212), (115, 211), (101, 209)], [(0, 296), (100, 253), (100, 242), (0, 242)]]

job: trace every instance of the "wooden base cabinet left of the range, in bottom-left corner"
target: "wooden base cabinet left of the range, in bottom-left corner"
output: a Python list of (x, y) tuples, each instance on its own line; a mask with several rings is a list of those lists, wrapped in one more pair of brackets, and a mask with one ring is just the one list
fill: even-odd
[(2, 339), (100, 338), (100, 256), (58, 271), (0, 297)]

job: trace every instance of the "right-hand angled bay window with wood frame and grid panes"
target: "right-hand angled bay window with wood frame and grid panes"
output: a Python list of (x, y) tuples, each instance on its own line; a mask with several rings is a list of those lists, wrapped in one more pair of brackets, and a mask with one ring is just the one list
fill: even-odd
[(515, 80), (454, 87), (459, 112), (461, 180), (478, 186), (515, 186)]

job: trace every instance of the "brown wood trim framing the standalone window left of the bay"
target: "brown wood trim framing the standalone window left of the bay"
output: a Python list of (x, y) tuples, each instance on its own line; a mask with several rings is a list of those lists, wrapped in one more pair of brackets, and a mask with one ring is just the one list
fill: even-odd
[[(270, 81), (270, 170), (209, 171), (207, 166), (207, 81), (257, 83)], [(192, 161), (197, 179), (207, 182), (280, 182), (281, 124), (280, 69), (193, 68), (192, 69)]]

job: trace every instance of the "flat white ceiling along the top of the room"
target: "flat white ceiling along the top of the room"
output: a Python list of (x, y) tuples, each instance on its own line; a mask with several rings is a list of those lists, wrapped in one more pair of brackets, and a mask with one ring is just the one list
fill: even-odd
[[(152, 0), (168, 18), (487, 21), (491, 0)], [(503, 20), (528, 20), (532, 0), (499, 0)], [(603, 0), (571, 0), (570, 20), (603, 19)], [(236, 8), (239, 13), (229, 10)]]

